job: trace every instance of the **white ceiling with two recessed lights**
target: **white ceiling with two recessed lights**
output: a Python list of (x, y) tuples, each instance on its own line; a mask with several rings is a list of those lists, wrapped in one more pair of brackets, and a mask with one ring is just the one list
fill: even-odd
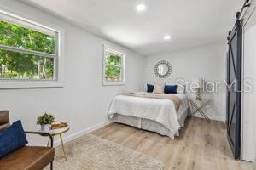
[[(244, 0), (21, 0), (140, 54), (224, 41)], [(146, 4), (143, 13), (138, 3)], [(171, 35), (170, 41), (163, 36)]]

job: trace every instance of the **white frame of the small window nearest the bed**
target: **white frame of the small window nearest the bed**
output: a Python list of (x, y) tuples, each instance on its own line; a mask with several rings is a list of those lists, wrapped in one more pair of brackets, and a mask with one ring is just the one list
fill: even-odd
[[(121, 55), (121, 66), (118, 67), (120, 68), (120, 73), (121, 73), (121, 80), (122, 81), (119, 81), (119, 82), (108, 82), (106, 81), (106, 67), (107, 66), (112, 66), (112, 67), (115, 67), (117, 68), (117, 66), (114, 66), (114, 65), (106, 65), (106, 61), (107, 61), (107, 58), (106, 58), (106, 53), (107, 51), (110, 51), (110, 52), (113, 52), (114, 54), (119, 54)], [(109, 47), (105, 44), (103, 44), (103, 66), (102, 66), (102, 84), (103, 86), (118, 86), (118, 85), (125, 85), (125, 53), (119, 51), (119, 50), (115, 50), (113, 49), (112, 47)]]

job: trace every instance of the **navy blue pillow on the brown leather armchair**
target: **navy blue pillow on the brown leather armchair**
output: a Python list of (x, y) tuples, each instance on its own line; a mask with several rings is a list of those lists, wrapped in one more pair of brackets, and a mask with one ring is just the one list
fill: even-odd
[(0, 133), (0, 141), (0, 158), (25, 146), (27, 140), (21, 122), (14, 122), (8, 129)]

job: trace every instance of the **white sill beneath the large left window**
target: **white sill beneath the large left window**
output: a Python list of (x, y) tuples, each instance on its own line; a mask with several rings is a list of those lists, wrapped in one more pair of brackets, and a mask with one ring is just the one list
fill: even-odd
[(19, 89), (19, 88), (63, 88), (62, 82), (1, 82), (0, 89)]

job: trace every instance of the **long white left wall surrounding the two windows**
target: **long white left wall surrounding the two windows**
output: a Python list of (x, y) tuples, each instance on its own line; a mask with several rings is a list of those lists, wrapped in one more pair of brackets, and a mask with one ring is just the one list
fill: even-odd
[[(48, 111), (57, 120), (65, 120), (71, 130), (66, 137), (78, 136), (86, 129), (107, 121), (108, 105), (113, 96), (124, 90), (143, 88), (145, 57), (121, 48), (79, 27), (59, 20), (36, 8), (13, 0), (0, 0), (0, 7), (44, 25), (65, 30), (64, 88), (0, 90), (0, 110), (9, 110), (11, 120), (21, 119), (27, 130), (38, 130), (36, 118)], [(126, 85), (102, 86), (102, 44), (125, 53)], [(32, 143), (46, 140), (30, 138)]]

